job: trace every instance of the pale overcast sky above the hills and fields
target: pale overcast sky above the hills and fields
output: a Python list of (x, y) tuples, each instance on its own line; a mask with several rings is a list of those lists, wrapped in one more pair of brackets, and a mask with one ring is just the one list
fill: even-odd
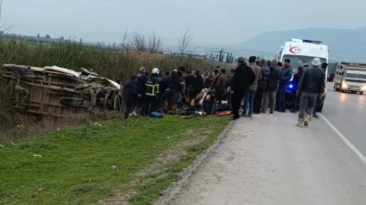
[(3, 1), (12, 33), (89, 41), (120, 42), (126, 27), (172, 44), (191, 25), (195, 45), (230, 45), (268, 31), (366, 26), (364, 0)]

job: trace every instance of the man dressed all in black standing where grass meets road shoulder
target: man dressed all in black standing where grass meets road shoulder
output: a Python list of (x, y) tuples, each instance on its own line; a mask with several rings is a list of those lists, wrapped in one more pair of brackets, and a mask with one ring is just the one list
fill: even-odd
[[(230, 93), (232, 94), (232, 112), (234, 114), (232, 120), (237, 120), (239, 116), (240, 102), (249, 86), (256, 80), (256, 75), (252, 68), (244, 64), (243, 57), (237, 58), (237, 67), (235, 69), (234, 77), (230, 84)], [(254, 61), (255, 62), (255, 61)]]

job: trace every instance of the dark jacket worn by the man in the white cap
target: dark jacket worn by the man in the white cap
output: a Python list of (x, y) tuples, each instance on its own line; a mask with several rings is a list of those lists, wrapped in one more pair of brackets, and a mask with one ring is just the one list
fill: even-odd
[(297, 90), (302, 92), (324, 93), (325, 73), (319, 67), (312, 67), (305, 71), (298, 83)]

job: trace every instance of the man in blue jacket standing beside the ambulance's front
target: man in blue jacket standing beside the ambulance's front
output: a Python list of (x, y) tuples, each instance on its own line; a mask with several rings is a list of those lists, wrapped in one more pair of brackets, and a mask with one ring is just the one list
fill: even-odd
[(292, 67), (290, 65), (290, 59), (286, 58), (283, 65), (284, 68), (282, 71), (282, 78), (280, 86), (278, 88), (278, 91), (280, 92), (280, 103), (278, 112), (280, 113), (286, 112), (286, 100), (285, 100), (286, 86), (292, 77)]

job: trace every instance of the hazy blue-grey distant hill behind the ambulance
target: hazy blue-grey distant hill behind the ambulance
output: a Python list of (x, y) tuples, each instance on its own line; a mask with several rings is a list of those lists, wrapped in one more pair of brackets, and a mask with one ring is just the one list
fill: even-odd
[(241, 43), (238, 48), (275, 53), (285, 41), (290, 41), (291, 38), (323, 41), (329, 47), (331, 60), (366, 62), (366, 27), (267, 32)]

